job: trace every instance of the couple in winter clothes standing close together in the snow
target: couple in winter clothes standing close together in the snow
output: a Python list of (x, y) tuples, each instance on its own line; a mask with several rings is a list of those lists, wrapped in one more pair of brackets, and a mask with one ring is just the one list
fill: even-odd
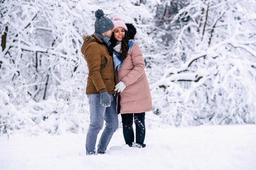
[[(119, 17), (110, 20), (101, 9), (95, 12), (95, 17), (95, 32), (83, 36), (81, 48), (89, 70), (86, 94), (90, 105), (90, 126), (86, 136), (86, 155), (106, 152), (118, 128), (118, 113), (121, 113), (126, 144), (145, 147), (145, 112), (152, 110), (152, 101), (142, 52), (134, 42), (136, 28), (125, 24)], [(106, 127), (96, 151), (97, 136), (104, 120)]]

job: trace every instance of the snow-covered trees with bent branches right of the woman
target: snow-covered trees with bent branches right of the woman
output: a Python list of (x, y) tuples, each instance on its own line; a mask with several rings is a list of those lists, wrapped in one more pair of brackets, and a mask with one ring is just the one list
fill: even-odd
[(163, 2), (162, 50), (148, 58), (155, 113), (176, 126), (255, 123), (255, 2)]

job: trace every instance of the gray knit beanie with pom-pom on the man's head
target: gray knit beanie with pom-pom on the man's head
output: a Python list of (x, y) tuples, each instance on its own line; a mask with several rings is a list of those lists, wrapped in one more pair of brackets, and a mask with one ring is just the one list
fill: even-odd
[(97, 9), (95, 12), (96, 21), (94, 23), (95, 33), (104, 33), (114, 27), (112, 20), (104, 16), (101, 9)]

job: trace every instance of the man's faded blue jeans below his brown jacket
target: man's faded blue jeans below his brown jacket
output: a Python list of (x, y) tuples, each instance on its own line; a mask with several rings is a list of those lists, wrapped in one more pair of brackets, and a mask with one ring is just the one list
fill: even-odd
[(101, 105), (100, 94), (88, 94), (87, 96), (90, 105), (90, 126), (86, 136), (86, 155), (95, 154), (97, 136), (99, 131), (103, 128), (104, 120), (106, 121), (106, 127), (101, 134), (97, 153), (105, 153), (113, 133), (118, 128), (115, 96), (113, 94), (109, 94), (111, 100), (110, 107), (103, 107)]

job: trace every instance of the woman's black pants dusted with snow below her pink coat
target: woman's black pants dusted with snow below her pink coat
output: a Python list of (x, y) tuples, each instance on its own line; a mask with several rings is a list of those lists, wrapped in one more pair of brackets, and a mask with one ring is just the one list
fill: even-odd
[(134, 132), (132, 128), (133, 115), (134, 115), (134, 123), (136, 127), (136, 143), (143, 144), (145, 139), (145, 133), (146, 133), (145, 112), (121, 114), (124, 140), (128, 145), (132, 145), (132, 142), (134, 142)]

